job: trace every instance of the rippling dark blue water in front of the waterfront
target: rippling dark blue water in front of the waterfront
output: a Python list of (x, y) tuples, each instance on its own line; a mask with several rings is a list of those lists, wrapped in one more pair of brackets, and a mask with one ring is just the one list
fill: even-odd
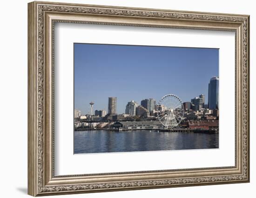
[(75, 131), (74, 153), (218, 148), (219, 134), (138, 131)]

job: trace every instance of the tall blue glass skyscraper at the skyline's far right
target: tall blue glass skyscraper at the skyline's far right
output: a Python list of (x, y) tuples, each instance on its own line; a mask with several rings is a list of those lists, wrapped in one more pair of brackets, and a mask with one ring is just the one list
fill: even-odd
[(208, 85), (208, 108), (219, 109), (219, 77), (212, 77)]

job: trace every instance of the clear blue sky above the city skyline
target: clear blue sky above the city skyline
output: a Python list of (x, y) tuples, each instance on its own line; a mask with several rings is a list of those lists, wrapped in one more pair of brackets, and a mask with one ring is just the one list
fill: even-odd
[(117, 97), (117, 113), (128, 101), (175, 94), (182, 102), (205, 95), (219, 76), (219, 50), (210, 48), (74, 44), (74, 108), (108, 111), (108, 97)]

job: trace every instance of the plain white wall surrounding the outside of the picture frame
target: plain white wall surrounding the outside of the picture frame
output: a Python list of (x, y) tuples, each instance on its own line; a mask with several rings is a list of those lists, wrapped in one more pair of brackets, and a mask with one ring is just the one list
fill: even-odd
[[(55, 1), (55, 0), (52, 0)], [(2, 1), (0, 11), (0, 197), (22, 198), (27, 195), (27, 0)], [(58, 1), (56, 1), (58, 2)], [(255, 197), (256, 188), (256, 13), (251, 0), (62, 0), (68, 3), (109, 6), (147, 7), (215, 13), (250, 15), (250, 120), (251, 182), (246, 184), (152, 189), (64, 195), (58, 198), (130, 198), (130, 197)], [(13, 115), (18, 115), (15, 121)]]

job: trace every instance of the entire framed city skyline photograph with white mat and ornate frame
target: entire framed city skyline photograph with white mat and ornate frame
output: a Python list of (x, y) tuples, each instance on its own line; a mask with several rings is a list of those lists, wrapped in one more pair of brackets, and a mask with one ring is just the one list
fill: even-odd
[(28, 4), (28, 194), (249, 182), (249, 16)]

